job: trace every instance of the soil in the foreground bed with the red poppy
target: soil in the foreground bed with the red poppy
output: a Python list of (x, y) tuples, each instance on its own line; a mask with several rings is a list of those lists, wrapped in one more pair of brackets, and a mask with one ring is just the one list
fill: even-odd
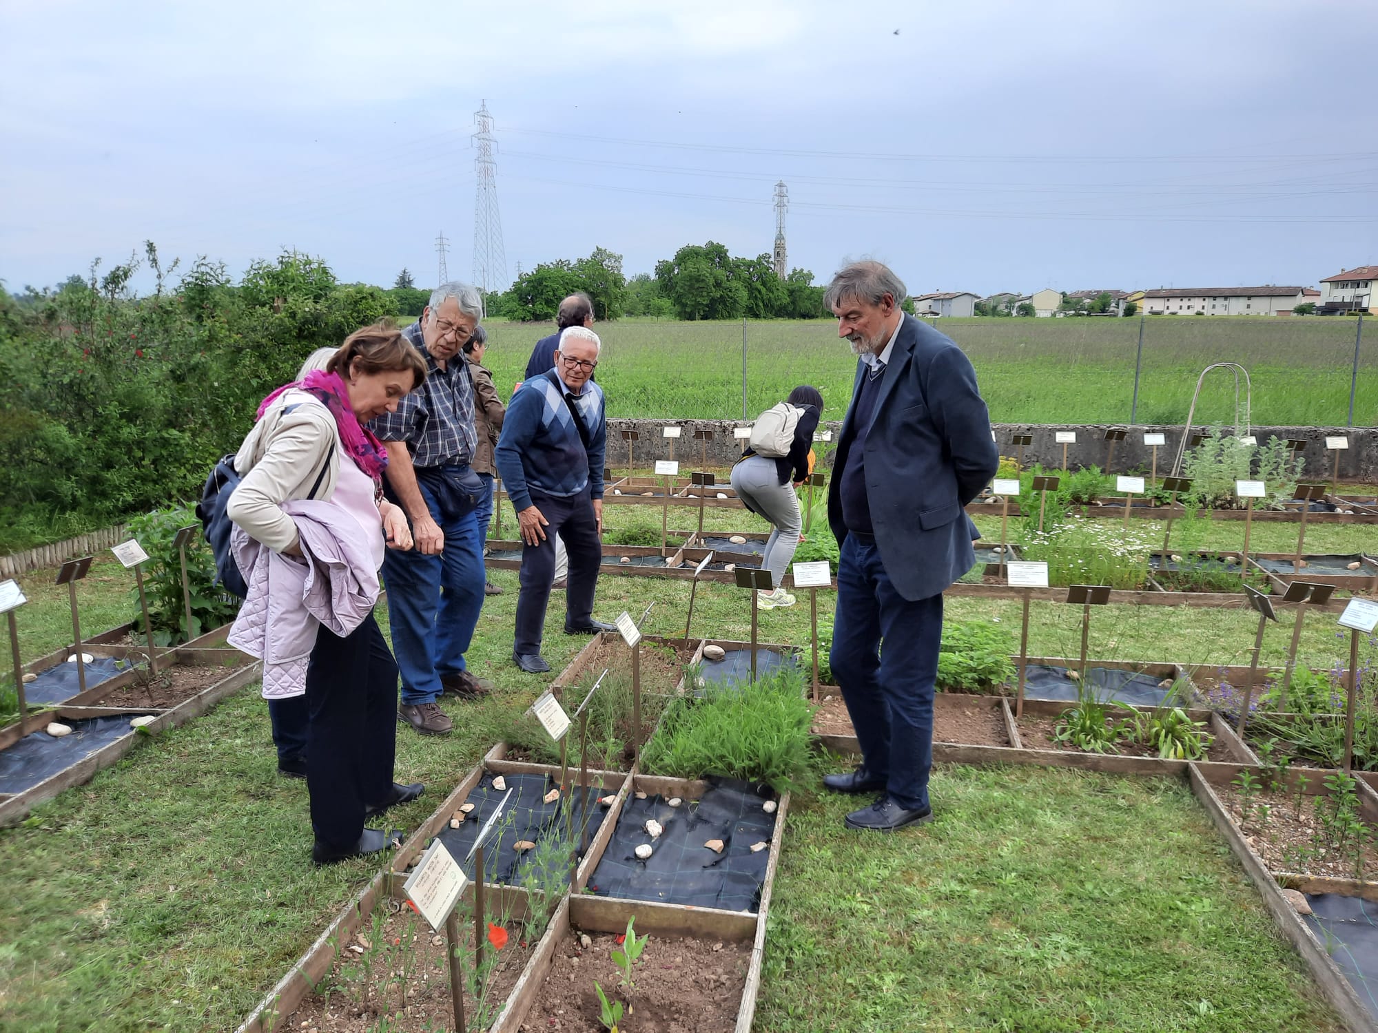
[[(379, 901), (379, 908), (397, 906), (397, 901)], [(474, 926), (459, 923), (464, 941), (466, 970), (474, 963)], [(496, 1016), (535, 943), (521, 942), (521, 926), (506, 927), (507, 945), (496, 952), (497, 964), (489, 978), (485, 999), (489, 1022)], [(357, 948), (357, 949), (356, 949)], [(493, 956), (492, 943), (484, 946), (485, 957)], [(431, 932), (430, 926), (411, 908), (390, 913), (379, 924), (365, 921), (360, 934), (335, 959), (331, 971), (317, 993), (302, 1001), (277, 1029), (317, 1030), (317, 1033), (372, 1033), (386, 1029), (395, 1033), (452, 1029), (455, 1011), (449, 996), (449, 968), (444, 935)], [(467, 982), (467, 979), (466, 979)], [(473, 1025), (478, 1003), (464, 993), (464, 1022)], [(486, 1029), (486, 1026), (485, 1026)]]

